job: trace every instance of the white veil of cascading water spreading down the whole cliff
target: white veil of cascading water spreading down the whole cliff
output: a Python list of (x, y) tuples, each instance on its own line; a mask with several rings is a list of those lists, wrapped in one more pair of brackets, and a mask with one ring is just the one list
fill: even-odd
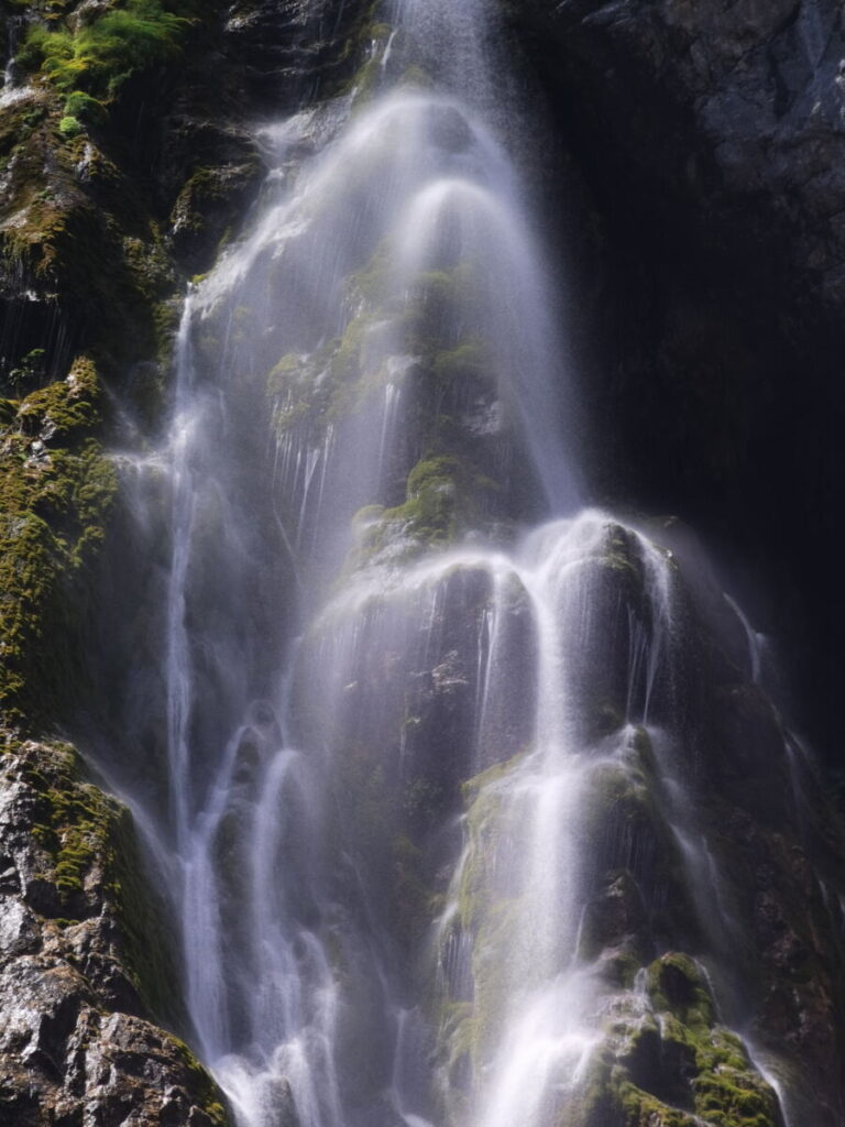
[(242, 1127), (605, 1127), (602, 1068), (688, 1049), (675, 975), (776, 1125), (711, 1012), (750, 1002), (685, 767), (693, 611), (580, 511), (493, 39), (481, 0), (404, 0), (370, 100), (260, 131), (251, 233), (185, 305), (150, 834), (190, 1023)]

